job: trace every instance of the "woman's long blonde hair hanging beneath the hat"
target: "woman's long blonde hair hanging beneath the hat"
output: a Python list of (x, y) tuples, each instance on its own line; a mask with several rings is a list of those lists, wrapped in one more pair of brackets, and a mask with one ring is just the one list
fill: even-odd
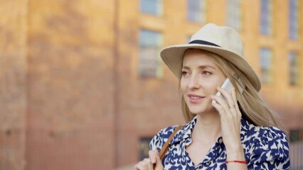
[[(225, 58), (220, 57), (219, 55), (214, 54), (213, 52), (208, 52), (205, 50), (201, 51), (206, 55), (210, 55), (211, 60), (213, 60), (213, 62), (220, 67), (225, 76), (230, 79), (231, 83), (235, 87), (238, 106), (243, 118), (257, 126), (275, 126), (277, 128), (281, 128), (281, 125), (278, 123), (276, 118), (277, 114), (272, 111), (272, 109), (270, 109), (264, 101), (262, 101), (262, 98), (260, 98), (254, 86), (250, 84), (249, 79), (245, 77), (243, 72), (241, 72), (238, 67), (235, 67), (233, 63), (225, 60)], [(181, 77), (179, 77), (179, 79), (181, 80)], [(240, 89), (243, 89), (242, 94)], [(189, 111), (183, 96), (181, 96), (181, 109), (184, 119), (186, 120), (186, 123), (188, 123), (195, 115)]]

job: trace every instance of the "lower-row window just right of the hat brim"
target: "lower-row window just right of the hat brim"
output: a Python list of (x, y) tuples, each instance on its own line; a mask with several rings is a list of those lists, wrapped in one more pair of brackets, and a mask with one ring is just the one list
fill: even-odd
[(260, 67), (262, 83), (272, 83), (272, 52), (268, 48), (260, 49)]

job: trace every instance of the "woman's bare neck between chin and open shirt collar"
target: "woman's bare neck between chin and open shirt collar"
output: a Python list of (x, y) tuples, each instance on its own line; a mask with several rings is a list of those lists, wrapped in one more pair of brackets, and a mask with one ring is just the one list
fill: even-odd
[(197, 122), (192, 132), (195, 140), (209, 143), (216, 141), (221, 136), (220, 115), (218, 113), (203, 113), (196, 117)]

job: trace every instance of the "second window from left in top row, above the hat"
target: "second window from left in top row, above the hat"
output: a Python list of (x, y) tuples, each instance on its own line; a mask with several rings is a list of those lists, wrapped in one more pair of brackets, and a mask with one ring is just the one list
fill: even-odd
[(206, 0), (187, 0), (187, 19), (195, 23), (206, 21)]

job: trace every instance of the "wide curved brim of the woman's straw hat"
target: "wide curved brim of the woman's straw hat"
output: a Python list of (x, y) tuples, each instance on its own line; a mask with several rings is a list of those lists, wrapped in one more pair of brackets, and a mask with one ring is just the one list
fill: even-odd
[(181, 78), (181, 67), (183, 63), (184, 52), (190, 48), (196, 48), (201, 50), (206, 50), (209, 52), (216, 53), (221, 57), (224, 57), (229, 62), (233, 63), (240, 71), (245, 74), (246, 77), (250, 80), (252, 86), (255, 87), (257, 91), (261, 89), (260, 79), (257, 77), (255, 71), (250, 67), (250, 64), (245, 60), (244, 57), (241, 57), (234, 52), (224, 50), (221, 47), (216, 47), (212, 45), (201, 45), (201, 44), (186, 44), (186, 45), (172, 45), (165, 47), (161, 50), (160, 55), (164, 63), (171, 69), (176, 77)]

